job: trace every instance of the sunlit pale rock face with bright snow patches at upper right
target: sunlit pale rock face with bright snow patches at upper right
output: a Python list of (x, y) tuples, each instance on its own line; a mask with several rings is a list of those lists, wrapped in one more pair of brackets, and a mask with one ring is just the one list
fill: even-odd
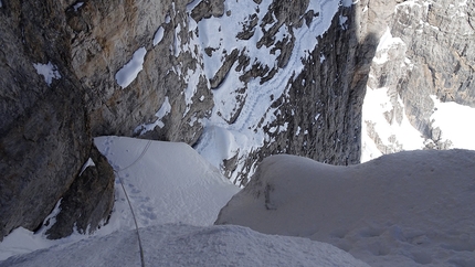
[(380, 95), (379, 100), (368, 100), (368, 106), (386, 105), (378, 111), (384, 119), (377, 122), (374, 111), (368, 109), (365, 135), (381, 153), (451, 148), (455, 140), (442, 138), (445, 129), (434, 124), (434, 104), (436, 98), (475, 107), (475, 52), (469, 49), (475, 40), (475, 3), (394, 1), (393, 12), (379, 15), (388, 10), (388, 1), (383, 2), (372, 6), (376, 15), (369, 21), (379, 25), (379, 35), (386, 33), (371, 65), (367, 97)]

